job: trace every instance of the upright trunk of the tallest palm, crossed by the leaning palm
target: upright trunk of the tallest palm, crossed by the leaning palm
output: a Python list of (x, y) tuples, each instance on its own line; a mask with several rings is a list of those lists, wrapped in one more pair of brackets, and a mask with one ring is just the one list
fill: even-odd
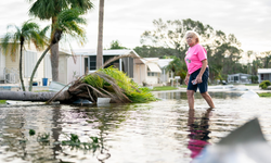
[[(51, 32), (51, 39), (54, 38), (56, 16), (52, 17), (52, 32)], [(51, 66), (52, 66), (52, 80), (59, 82), (59, 42), (54, 43), (51, 47)]]

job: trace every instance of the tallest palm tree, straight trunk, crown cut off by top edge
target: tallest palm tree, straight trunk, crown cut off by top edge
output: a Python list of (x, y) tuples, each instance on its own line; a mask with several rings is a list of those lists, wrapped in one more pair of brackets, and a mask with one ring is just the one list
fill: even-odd
[[(56, 30), (55, 24), (57, 22), (57, 15), (67, 9), (78, 8), (81, 10), (81, 14), (93, 8), (93, 3), (90, 0), (28, 0), (34, 2), (29, 9), (29, 14), (40, 20), (51, 20), (51, 39), (53, 39), (54, 32)], [(59, 80), (59, 42), (51, 47), (51, 66), (52, 66), (52, 79)]]

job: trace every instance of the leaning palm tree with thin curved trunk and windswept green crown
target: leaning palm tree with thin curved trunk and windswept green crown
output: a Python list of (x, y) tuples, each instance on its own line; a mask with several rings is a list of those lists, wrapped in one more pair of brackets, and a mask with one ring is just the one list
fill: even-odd
[(59, 13), (56, 22), (53, 24), (52, 37), (50, 39), (49, 46), (46, 51), (41, 54), (38, 62), (36, 63), (31, 77), (29, 91), (31, 91), (31, 84), (34, 75), (46, 57), (47, 52), (54, 46), (57, 45), (63, 35), (68, 35), (76, 38), (79, 42), (83, 43), (86, 41), (85, 29), (79, 26), (79, 24), (86, 25), (87, 21), (82, 18), (80, 9), (66, 9)]

